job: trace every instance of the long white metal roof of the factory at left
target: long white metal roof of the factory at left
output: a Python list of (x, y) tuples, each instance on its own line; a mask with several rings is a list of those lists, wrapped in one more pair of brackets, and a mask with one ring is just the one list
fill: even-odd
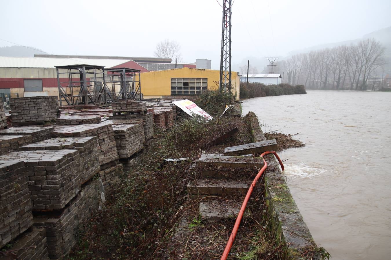
[(35, 57), (0, 57), (0, 67), (16, 68), (54, 68), (56, 66), (88, 64), (106, 68), (123, 64), (130, 60), (106, 60), (83, 58), (35, 58)]

